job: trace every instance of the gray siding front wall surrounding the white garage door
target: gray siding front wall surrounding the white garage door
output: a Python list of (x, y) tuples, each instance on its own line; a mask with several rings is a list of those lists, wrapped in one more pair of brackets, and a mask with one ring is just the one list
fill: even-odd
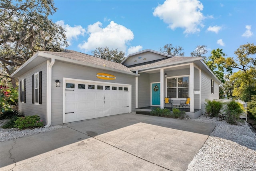
[[(96, 77), (99, 72), (108, 73), (116, 76), (116, 80), (101, 80)], [(96, 68), (88, 68), (84, 66), (76, 66), (63, 62), (55, 62), (52, 66), (52, 125), (63, 123), (63, 78), (73, 78), (80, 80), (92, 80), (108, 83), (120, 83), (132, 85), (132, 111), (135, 111), (135, 77), (120, 74), (117, 72), (109, 72), (98, 70)], [(55, 80), (60, 80), (60, 87), (56, 87)]]

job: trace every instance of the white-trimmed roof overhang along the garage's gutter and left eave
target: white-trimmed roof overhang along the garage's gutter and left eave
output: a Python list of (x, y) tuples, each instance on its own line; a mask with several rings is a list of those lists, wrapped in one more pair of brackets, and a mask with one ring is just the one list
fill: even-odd
[(42, 64), (44, 61), (51, 60), (51, 59), (55, 59), (55, 61), (65, 62), (65, 63), (69, 63), (69, 64), (76, 64), (76, 65), (86, 66), (86, 67), (90, 67), (90, 68), (97, 68), (97, 69), (101, 69), (101, 70), (118, 72), (118, 73), (131, 75), (131, 76), (139, 76), (139, 74), (135, 74), (133, 72), (125, 72), (125, 71), (122, 71), (122, 70), (116, 70), (114, 68), (109, 68), (109, 67), (106, 67), (106, 66), (100, 66), (100, 65), (96, 65), (96, 64), (89, 64), (89, 63), (86, 63), (86, 62), (82, 62), (82, 61), (78, 61), (78, 60), (72, 60), (72, 59), (69, 59), (69, 58), (64, 58), (64, 57), (60, 57), (60, 56), (56, 56), (56, 55), (52, 55), (52, 54), (47, 54), (45, 52), (40, 52), (39, 51), (39, 52), (36, 52), (36, 54), (34, 54), (31, 58), (29, 58), (22, 66), (20, 66), (20, 68), (18, 68), (11, 75), (11, 77), (18, 78), (18, 77), (22, 76), (24, 73), (31, 70), (32, 68), (35, 68), (39, 64)]

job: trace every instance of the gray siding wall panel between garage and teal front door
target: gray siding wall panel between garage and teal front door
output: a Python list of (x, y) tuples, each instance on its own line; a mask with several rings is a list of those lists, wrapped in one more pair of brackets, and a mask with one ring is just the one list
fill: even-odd
[(150, 74), (141, 73), (138, 77), (138, 107), (150, 106)]

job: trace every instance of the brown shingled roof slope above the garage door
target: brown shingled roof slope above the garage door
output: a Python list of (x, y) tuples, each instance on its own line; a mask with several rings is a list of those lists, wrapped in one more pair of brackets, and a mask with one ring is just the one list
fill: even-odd
[(106, 68), (112, 68), (115, 70), (122, 70), (125, 72), (130, 72), (132, 73), (126, 66), (116, 63), (116, 62), (111, 62), (108, 60), (104, 60), (101, 58), (97, 58), (95, 56), (91, 56), (91, 55), (87, 55), (87, 54), (83, 54), (81, 52), (76, 52), (73, 50), (64, 50), (64, 52), (48, 52), (48, 51), (42, 51), (46, 54), (52, 54), (52, 55), (56, 55), (56, 56), (60, 56), (63, 58), (68, 58), (68, 59), (72, 59), (72, 60), (77, 60), (77, 61), (81, 61), (81, 62), (86, 62), (89, 64), (95, 64), (95, 65), (99, 65), (99, 66), (104, 66)]

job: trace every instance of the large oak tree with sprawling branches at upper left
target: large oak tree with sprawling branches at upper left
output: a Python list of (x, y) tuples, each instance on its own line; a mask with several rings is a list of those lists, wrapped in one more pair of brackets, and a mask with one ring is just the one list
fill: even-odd
[(64, 28), (48, 19), (56, 10), (53, 0), (1, 0), (1, 78), (10, 79), (39, 50), (60, 52), (68, 45)]

